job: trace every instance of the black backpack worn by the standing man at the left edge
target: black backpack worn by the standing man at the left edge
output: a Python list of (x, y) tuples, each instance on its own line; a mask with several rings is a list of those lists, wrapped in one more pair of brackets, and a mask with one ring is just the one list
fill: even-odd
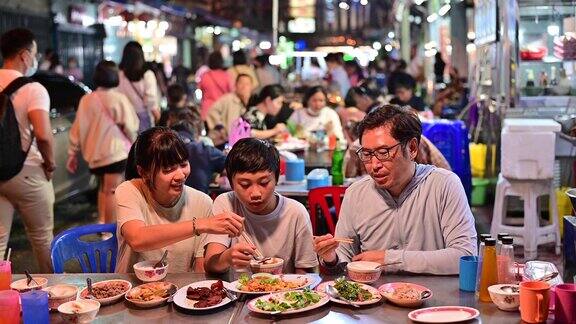
[(19, 77), (0, 92), (0, 181), (6, 181), (17, 175), (24, 167), (24, 161), (32, 147), (22, 150), (20, 129), (11, 96), (22, 86), (34, 82), (27, 77)]

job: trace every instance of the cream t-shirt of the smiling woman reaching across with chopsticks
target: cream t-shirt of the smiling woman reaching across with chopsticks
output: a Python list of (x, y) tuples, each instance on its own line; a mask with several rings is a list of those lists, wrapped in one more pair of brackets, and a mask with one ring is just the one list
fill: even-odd
[(134, 272), (132, 266), (145, 260), (160, 260), (164, 250), (168, 250), (168, 272), (190, 272), (195, 258), (204, 256), (204, 235), (194, 236), (171, 244), (165, 248), (136, 252), (132, 250), (122, 235), (122, 226), (132, 220), (140, 220), (146, 225), (177, 224), (184, 221), (206, 218), (212, 215), (212, 199), (203, 192), (184, 186), (184, 191), (176, 205), (162, 207), (151, 196), (148, 186), (142, 179), (125, 181), (116, 188), (118, 256), (116, 273)]

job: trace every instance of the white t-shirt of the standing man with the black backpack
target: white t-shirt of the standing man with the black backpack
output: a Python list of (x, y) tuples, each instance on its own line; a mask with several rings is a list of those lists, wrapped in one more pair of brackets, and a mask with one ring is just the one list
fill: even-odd
[[(0, 91), (3, 91), (12, 81), (22, 76), (22, 73), (16, 70), (0, 69)], [(43, 110), (50, 112), (50, 96), (48, 91), (40, 83), (28, 83), (18, 89), (12, 95), (12, 104), (14, 106), (14, 113), (18, 121), (18, 129), (20, 129), (20, 140), (22, 143), (22, 150), (26, 152), (28, 147), (30, 151), (24, 161), (25, 165), (40, 166), (44, 162), (36, 140), (32, 142), (32, 125), (28, 119), (28, 113), (33, 110)]]

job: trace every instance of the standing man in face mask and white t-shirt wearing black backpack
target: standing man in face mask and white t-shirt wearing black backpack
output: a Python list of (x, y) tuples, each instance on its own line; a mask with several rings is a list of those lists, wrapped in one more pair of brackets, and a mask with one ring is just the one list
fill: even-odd
[(38, 68), (34, 34), (16, 28), (0, 37), (0, 254), (14, 212), (25, 225), (40, 273), (51, 273), (56, 169), (48, 91), (29, 77)]

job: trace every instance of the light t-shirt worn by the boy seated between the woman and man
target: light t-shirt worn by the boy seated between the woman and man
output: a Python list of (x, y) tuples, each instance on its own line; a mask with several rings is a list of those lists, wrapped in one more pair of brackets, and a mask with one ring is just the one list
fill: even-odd
[[(268, 215), (256, 215), (248, 211), (233, 191), (216, 198), (212, 212), (225, 211), (244, 217), (244, 229), (256, 247), (266, 257), (284, 259), (284, 273), (294, 273), (295, 268), (313, 268), (318, 265), (314, 252), (312, 224), (306, 208), (296, 200), (278, 197), (278, 205)], [(220, 243), (226, 247), (238, 243), (238, 238), (227, 235), (208, 234), (204, 244)]]

